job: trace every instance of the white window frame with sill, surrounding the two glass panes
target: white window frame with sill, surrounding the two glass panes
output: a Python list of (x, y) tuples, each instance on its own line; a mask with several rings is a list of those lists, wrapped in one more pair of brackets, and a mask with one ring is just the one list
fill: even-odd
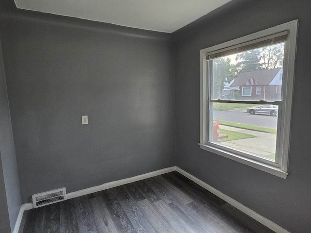
[[(203, 150), (213, 152), (242, 164), (255, 167), (259, 170), (276, 175), (283, 179), (287, 178), (289, 147), (290, 147), (290, 123), (292, 112), (292, 99), (294, 90), (294, 64), (297, 43), (298, 20), (293, 20), (257, 33), (252, 33), (241, 38), (237, 38), (219, 45), (200, 50), (201, 55), (201, 102), (200, 102), (200, 143)], [(254, 155), (247, 155), (243, 151), (230, 149), (208, 141), (210, 132), (210, 112), (208, 100), (208, 62), (207, 54), (213, 54), (219, 51), (229, 50), (243, 45), (251, 45), (254, 41), (260, 41), (260, 38), (272, 36), (276, 33), (288, 32), (288, 42), (285, 44), (283, 83), (281, 101), (263, 101), (259, 100), (258, 104), (278, 104), (277, 134), (276, 134), (276, 162), (264, 159)], [(262, 40), (262, 39), (261, 39)], [(228, 102), (230, 100), (217, 100), (217, 102)], [(232, 101), (231, 101), (232, 102)], [(243, 101), (235, 101), (243, 102)]]

